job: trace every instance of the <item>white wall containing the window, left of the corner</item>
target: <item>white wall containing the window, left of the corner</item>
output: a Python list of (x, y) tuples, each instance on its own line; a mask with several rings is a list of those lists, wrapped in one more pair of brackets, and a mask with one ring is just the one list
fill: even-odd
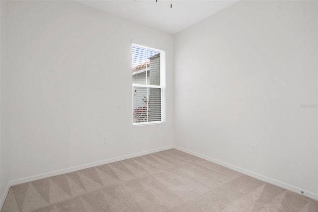
[[(171, 34), (75, 1), (10, 1), (6, 12), (10, 180), (172, 145)], [(132, 126), (131, 39), (166, 51), (166, 124)]]

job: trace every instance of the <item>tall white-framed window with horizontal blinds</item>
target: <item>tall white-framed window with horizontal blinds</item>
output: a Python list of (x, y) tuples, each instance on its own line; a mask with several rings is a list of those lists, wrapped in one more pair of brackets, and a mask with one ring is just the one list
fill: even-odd
[(133, 125), (165, 122), (165, 52), (133, 44)]

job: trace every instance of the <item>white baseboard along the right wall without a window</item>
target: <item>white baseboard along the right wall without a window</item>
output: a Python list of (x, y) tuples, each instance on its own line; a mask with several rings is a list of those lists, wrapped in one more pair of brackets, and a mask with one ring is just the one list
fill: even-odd
[(229, 169), (238, 171), (238, 172), (240, 172), (242, 174), (248, 175), (250, 177), (256, 178), (256, 179), (261, 180), (261, 181), (264, 181), (266, 183), (270, 183), (270, 184), (273, 184), (275, 186), (281, 187), (283, 189), (286, 189), (286, 190), (289, 190), (289, 191), (292, 191), (292, 192), (296, 192), (298, 194), (300, 194), (301, 191), (303, 191), (304, 192), (304, 194), (303, 194), (304, 196), (312, 198), (314, 200), (318, 200), (318, 194), (315, 194), (313, 192), (306, 191), (306, 190), (298, 188), (296, 186), (293, 186), (293, 185), (290, 185), (290, 184), (275, 180), (273, 178), (266, 177), (264, 175), (257, 174), (255, 172), (251, 172), (249, 170), (240, 168), (238, 166), (235, 166), (235, 165), (232, 165), (232, 164), (229, 164), (229, 163), (226, 163), (226, 162), (223, 162), (223, 161), (220, 161), (220, 160), (217, 160), (217, 159), (214, 159), (214, 158), (211, 158), (211, 157), (208, 157), (208, 156), (205, 156), (205, 155), (202, 155), (202, 154), (199, 154), (199, 153), (196, 153), (196, 152), (193, 152), (193, 151), (178, 147), (178, 146), (174, 146), (174, 148), (177, 149), (177, 150), (180, 150), (182, 152), (185, 152), (185, 153), (197, 156), (199, 158), (211, 161), (213, 163), (219, 164), (221, 166), (227, 167)]

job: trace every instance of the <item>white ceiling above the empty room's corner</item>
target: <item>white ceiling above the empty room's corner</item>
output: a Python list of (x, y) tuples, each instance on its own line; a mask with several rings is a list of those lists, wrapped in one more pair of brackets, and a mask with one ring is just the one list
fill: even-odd
[(237, 0), (77, 0), (79, 3), (174, 34)]

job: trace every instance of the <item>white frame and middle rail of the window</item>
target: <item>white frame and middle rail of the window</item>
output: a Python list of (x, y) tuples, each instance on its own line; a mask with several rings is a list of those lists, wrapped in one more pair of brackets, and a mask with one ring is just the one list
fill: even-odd
[[(151, 49), (160, 52), (160, 85), (142, 85), (142, 84), (133, 84), (132, 83), (132, 122), (133, 126), (145, 126), (145, 125), (154, 125), (154, 124), (163, 124), (165, 123), (165, 51), (159, 50), (156, 48), (151, 48), (148, 46), (143, 46), (139, 44), (132, 43), (131, 46), (131, 58), (133, 56), (133, 46), (139, 46), (146, 49)], [(161, 105), (161, 120), (160, 121), (148, 121), (147, 122), (139, 122), (134, 123), (134, 87), (142, 87), (142, 88), (160, 88), (160, 105)], [(149, 111), (149, 110), (148, 110)]]

